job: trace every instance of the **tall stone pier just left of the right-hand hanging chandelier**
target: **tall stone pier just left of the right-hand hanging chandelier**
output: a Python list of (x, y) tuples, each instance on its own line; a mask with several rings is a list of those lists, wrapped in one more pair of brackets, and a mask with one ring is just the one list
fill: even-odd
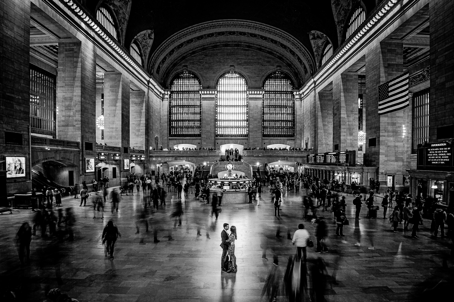
[(358, 150), (358, 75), (333, 80), (333, 149)]

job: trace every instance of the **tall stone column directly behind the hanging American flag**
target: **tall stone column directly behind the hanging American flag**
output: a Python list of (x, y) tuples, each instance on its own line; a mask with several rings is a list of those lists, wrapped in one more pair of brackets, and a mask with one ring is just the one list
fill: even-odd
[[(378, 115), (378, 86), (400, 75), (404, 71), (403, 44), (383, 41), (365, 55), (366, 58), (366, 144), (364, 163), (379, 167), (378, 179), (386, 190), (386, 176), (394, 175), (395, 187), (403, 186), (405, 172), (403, 125), (406, 110)], [(409, 135), (410, 133), (407, 132)], [(375, 138), (375, 146), (369, 144)]]

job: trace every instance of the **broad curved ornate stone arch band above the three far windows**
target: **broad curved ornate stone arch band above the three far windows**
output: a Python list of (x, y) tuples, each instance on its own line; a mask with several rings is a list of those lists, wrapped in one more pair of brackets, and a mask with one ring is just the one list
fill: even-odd
[[(187, 53), (209, 45), (238, 43), (236, 47), (252, 45), (257, 48), (266, 48), (281, 57), (286, 58), (305, 81), (315, 71), (315, 63), (304, 45), (286, 32), (253, 21), (219, 20), (206, 22), (183, 29), (164, 41), (153, 53), (148, 70), (163, 79), (163, 74), (175, 62)], [(188, 47), (191, 45), (190, 47)], [(177, 58), (177, 59), (175, 59)], [(166, 62), (169, 61), (169, 62)]]

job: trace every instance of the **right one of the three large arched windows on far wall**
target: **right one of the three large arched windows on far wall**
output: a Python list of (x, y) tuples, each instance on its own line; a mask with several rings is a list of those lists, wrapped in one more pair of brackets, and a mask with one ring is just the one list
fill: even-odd
[(274, 72), (263, 85), (263, 137), (295, 137), (295, 99), (291, 78)]

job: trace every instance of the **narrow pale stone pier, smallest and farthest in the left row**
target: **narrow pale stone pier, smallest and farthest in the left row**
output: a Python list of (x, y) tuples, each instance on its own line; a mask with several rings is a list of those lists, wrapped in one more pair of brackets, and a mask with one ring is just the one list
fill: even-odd
[(135, 149), (146, 149), (145, 137), (147, 133), (145, 131), (145, 91), (131, 91), (129, 102), (129, 145)]

